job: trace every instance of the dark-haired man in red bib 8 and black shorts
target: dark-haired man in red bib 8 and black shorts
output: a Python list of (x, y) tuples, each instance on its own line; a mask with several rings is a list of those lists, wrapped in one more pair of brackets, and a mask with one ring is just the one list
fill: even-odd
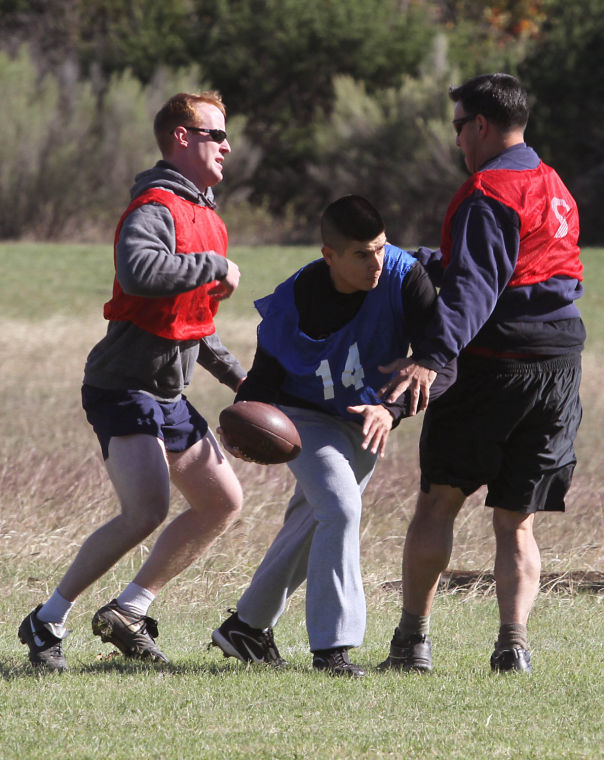
[(533, 521), (538, 510), (564, 510), (581, 419), (579, 219), (560, 177), (524, 142), (528, 99), (517, 79), (485, 74), (450, 97), (471, 176), (451, 201), (441, 251), (419, 252), (439, 275), (437, 306), (381, 396), (408, 389), (412, 412), (424, 408), (434, 370), (457, 355), (458, 380), (424, 418), (402, 617), (382, 667), (431, 669), (430, 611), (455, 518), (486, 484), (500, 618), (491, 668), (530, 673), (527, 622), (540, 576)]

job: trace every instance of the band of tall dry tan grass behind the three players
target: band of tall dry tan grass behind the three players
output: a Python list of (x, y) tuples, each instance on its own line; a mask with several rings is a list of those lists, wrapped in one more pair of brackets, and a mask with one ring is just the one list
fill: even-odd
[[(226, 345), (251, 361), (256, 319), (249, 315), (219, 324)], [(65, 567), (77, 546), (116, 509), (96, 438), (85, 421), (79, 389), (91, 346), (102, 336), (98, 316), (78, 320), (53, 317), (45, 322), (0, 324), (4, 397), (10, 415), (0, 420), (0, 552), (4, 562), (42, 569)], [(577, 441), (579, 465), (568, 511), (539, 515), (536, 533), (543, 569), (560, 577), (602, 566), (602, 495), (597, 420), (602, 394), (597, 357), (584, 358), (585, 415)], [(219, 410), (232, 402), (225, 386), (198, 370), (189, 396), (215, 426)], [(400, 578), (402, 546), (419, 482), (417, 441), (421, 419), (395, 431), (378, 463), (365, 497), (362, 548), (369, 589)], [(239, 522), (179, 581), (197, 598), (236, 598), (278, 531), (293, 486), (286, 467), (234, 462), (245, 489)], [(473, 495), (458, 518), (451, 568), (488, 574), (494, 542), (491, 511), (482, 508), (484, 492)], [(175, 494), (172, 512), (183, 506)], [(144, 558), (145, 545), (125, 561), (124, 573)], [(24, 579), (15, 577), (15, 582)]]

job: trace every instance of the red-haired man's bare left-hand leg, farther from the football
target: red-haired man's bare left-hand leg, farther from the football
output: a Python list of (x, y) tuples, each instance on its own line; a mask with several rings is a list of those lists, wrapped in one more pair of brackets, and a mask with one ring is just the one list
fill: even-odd
[(59, 593), (71, 602), (168, 514), (170, 478), (159, 439), (150, 435), (114, 437), (105, 465), (122, 512), (86, 539), (59, 583)]

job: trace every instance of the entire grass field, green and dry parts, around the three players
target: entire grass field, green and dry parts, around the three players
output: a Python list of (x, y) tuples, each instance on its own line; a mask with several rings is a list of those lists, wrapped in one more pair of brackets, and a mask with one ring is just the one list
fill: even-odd
[[(242, 284), (221, 307), (221, 337), (249, 363), (254, 298), (269, 292), (311, 249), (237, 248)], [(489, 586), (493, 542), (482, 494), (459, 518), (451, 568), (473, 573), (471, 589), (450, 588), (433, 615), (435, 672), (379, 674), (399, 613), (393, 586), (418, 481), (421, 420), (406, 421), (365, 499), (362, 526), (368, 631), (355, 661), (361, 682), (310, 670), (304, 594), (276, 630), (288, 673), (239, 667), (214, 649), (211, 630), (237, 601), (277, 531), (292, 480), (284, 467), (236, 462), (246, 499), (239, 522), (208, 555), (160, 595), (151, 610), (169, 668), (111, 656), (90, 633), (94, 610), (114, 596), (152, 539), (89, 589), (70, 618), (71, 670), (32, 675), (16, 629), (52, 592), (82, 540), (115, 510), (97, 443), (79, 404), (86, 354), (104, 332), (111, 287), (103, 246), (0, 245), (0, 757), (37, 758), (573, 758), (604, 757), (601, 705), (602, 594), (581, 591), (601, 573), (600, 379), (604, 351), (604, 251), (584, 252), (582, 312), (584, 420), (567, 514), (536, 522), (550, 583), (531, 619), (532, 678), (488, 672), (496, 604)], [(200, 371), (189, 393), (216, 424), (232, 393)], [(182, 508), (174, 496), (173, 512)]]

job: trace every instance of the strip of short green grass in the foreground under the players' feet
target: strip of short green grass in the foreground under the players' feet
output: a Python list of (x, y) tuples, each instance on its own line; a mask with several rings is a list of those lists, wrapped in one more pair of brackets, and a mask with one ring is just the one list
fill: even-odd
[[(60, 676), (32, 676), (3, 635), (1, 688), (10, 719), (2, 757), (602, 757), (596, 598), (539, 600), (532, 677), (489, 672), (495, 602), (463, 595), (441, 596), (436, 605), (431, 676), (377, 672), (396, 617), (394, 604), (384, 610), (386, 601), (370, 603), (367, 640), (354, 652), (369, 670), (362, 681), (311, 670), (299, 599), (277, 627), (287, 672), (247, 668), (206, 651), (224, 613), (187, 610), (177, 589), (158, 605), (169, 667), (121, 656), (95, 661), (111, 647), (92, 640), (89, 615), (74, 620), (66, 644), (71, 670)], [(14, 634), (17, 621), (6, 606)]]

